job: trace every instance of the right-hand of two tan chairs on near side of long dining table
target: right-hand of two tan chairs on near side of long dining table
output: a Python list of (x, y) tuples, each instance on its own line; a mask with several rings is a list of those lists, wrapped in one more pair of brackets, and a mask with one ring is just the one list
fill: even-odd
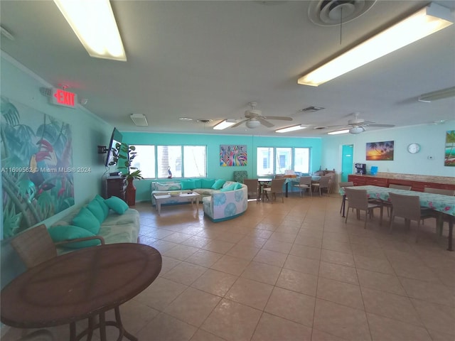
[(411, 221), (415, 220), (417, 221), (417, 234), (415, 237), (415, 242), (417, 243), (419, 240), (420, 220), (434, 218), (431, 210), (420, 207), (419, 195), (402, 195), (390, 192), (389, 197), (392, 203), (389, 232), (392, 233), (395, 217), (404, 218), (408, 229), (410, 229)]

